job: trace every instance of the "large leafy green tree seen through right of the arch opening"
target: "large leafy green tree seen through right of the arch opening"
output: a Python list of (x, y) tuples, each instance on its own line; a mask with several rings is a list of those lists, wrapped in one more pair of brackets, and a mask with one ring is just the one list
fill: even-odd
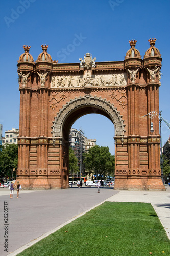
[(114, 176), (114, 156), (109, 152), (109, 148), (105, 146), (95, 145), (89, 149), (88, 153), (84, 153), (85, 168), (89, 173), (95, 173), (107, 176)]

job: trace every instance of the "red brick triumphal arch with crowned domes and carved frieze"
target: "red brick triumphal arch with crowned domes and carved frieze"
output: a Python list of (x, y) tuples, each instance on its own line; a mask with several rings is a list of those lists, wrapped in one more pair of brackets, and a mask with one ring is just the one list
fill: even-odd
[[(164, 190), (160, 170), (161, 55), (150, 39), (144, 58), (129, 41), (123, 61), (58, 63), (47, 45), (34, 62), (30, 46), (19, 57), (20, 122), (17, 179), (25, 188), (68, 188), (68, 140), (72, 124), (98, 113), (114, 124), (115, 189)], [(82, 57), (82, 58), (81, 58)], [(102, 136), (102, 135), (101, 135)]]

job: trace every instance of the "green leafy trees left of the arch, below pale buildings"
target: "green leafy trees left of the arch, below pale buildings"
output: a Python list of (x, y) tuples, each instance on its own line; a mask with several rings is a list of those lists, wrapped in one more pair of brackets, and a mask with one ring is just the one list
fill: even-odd
[[(1, 177), (12, 175), (12, 169), (18, 166), (18, 145), (5, 144), (0, 151), (0, 173)], [(14, 173), (16, 176), (16, 173)]]

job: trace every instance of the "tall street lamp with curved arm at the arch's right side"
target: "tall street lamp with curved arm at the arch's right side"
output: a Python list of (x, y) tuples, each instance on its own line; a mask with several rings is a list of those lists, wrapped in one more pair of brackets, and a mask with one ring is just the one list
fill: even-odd
[[(154, 128), (153, 128), (153, 122), (152, 122), (152, 119), (154, 117), (158, 117), (159, 118), (159, 123), (160, 123), (160, 137), (161, 137), (161, 155), (160, 155), (160, 167), (161, 167), (161, 179), (162, 179), (162, 183), (164, 183), (164, 175), (163, 175), (163, 156), (162, 156), (162, 131), (161, 131), (161, 123), (162, 123), (162, 120), (166, 123), (166, 125), (168, 126), (168, 128), (170, 129), (170, 124), (168, 122), (166, 122), (163, 117), (162, 117), (162, 111), (159, 111), (159, 114), (158, 112), (156, 111), (151, 111), (150, 113), (148, 113), (147, 115), (144, 115), (144, 116), (149, 116), (149, 118), (151, 119), (151, 133), (154, 132)], [(144, 117), (143, 116), (143, 117)]]

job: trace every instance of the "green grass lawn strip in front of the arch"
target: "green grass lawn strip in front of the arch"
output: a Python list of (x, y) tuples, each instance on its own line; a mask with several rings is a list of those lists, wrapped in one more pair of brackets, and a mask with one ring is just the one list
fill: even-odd
[[(55, 227), (54, 227), (55, 228)], [(170, 255), (149, 203), (105, 202), (18, 255)]]

